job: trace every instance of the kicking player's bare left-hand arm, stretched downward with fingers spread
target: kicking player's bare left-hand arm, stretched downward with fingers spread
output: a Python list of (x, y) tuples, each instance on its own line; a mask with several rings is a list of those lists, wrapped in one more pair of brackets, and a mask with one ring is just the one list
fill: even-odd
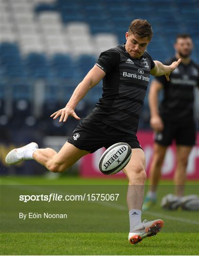
[(65, 122), (68, 116), (72, 116), (75, 119), (80, 120), (80, 118), (76, 115), (74, 111), (75, 107), (77, 106), (78, 102), (83, 99), (86, 93), (96, 84), (98, 84), (105, 75), (106, 73), (97, 65), (95, 65), (75, 88), (72, 93), (71, 99), (68, 101), (65, 108), (54, 112), (51, 117), (53, 117), (53, 119), (56, 119), (61, 116), (59, 122)]

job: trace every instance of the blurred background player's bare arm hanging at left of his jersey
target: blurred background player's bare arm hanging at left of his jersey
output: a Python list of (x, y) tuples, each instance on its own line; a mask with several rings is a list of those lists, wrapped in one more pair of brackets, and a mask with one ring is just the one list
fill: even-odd
[(151, 113), (150, 125), (155, 132), (162, 131), (164, 128), (163, 121), (159, 115), (158, 111), (158, 94), (159, 91), (163, 89), (163, 84), (154, 80), (151, 83), (149, 90), (149, 107)]

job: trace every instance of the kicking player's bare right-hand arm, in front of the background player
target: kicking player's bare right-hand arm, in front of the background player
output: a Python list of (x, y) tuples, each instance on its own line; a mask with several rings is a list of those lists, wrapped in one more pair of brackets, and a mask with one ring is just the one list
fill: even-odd
[(178, 61), (174, 61), (171, 65), (167, 66), (162, 64), (160, 61), (154, 61), (155, 66), (151, 70), (150, 74), (155, 76), (161, 76), (165, 75), (166, 80), (169, 81), (169, 75), (170, 73), (177, 68), (177, 66), (181, 63), (181, 59), (178, 59)]

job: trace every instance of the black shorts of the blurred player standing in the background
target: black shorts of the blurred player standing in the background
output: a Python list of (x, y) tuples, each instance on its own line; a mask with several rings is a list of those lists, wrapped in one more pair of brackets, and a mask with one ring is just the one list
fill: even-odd
[(196, 125), (194, 120), (186, 123), (163, 119), (164, 129), (155, 134), (155, 142), (169, 146), (175, 139), (176, 145), (193, 146), (196, 143)]

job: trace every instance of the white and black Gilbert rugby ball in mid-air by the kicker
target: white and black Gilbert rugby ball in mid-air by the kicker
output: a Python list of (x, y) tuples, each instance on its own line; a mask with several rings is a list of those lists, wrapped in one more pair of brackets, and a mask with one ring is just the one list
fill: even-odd
[(131, 147), (124, 142), (116, 143), (104, 152), (99, 160), (99, 170), (102, 174), (117, 174), (131, 159)]

